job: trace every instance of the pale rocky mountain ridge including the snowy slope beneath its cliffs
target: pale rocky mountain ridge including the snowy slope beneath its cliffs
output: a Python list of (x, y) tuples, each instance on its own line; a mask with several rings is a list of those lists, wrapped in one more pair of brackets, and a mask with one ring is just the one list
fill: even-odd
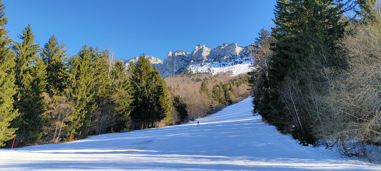
[[(223, 43), (216, 48), (199, 44), (192, 52), (170, 51), (168, 57), (161, 61), (153, 56), (147, 56), (152, 66), (156, 66), (162, 77), (180, 74), (185, 70), (193, 72), (209, 72), (217, 74), (232, 71), (233, 75), (249, 72), (252, 62), (251, 52), (254, 44), (241, 47), (237, 43)], [(138, 57), (123, 60), (127, 66), (130, 61), (136, 62)]]

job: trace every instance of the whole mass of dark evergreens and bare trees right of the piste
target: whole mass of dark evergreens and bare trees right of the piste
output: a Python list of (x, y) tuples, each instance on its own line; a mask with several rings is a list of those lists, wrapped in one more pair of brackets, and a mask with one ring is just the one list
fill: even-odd
[(254, 113), (303, 145), (367, 157), (381, 145), (380, 9), (378, 0), (277, 0), (275, 27), (253, 49)]

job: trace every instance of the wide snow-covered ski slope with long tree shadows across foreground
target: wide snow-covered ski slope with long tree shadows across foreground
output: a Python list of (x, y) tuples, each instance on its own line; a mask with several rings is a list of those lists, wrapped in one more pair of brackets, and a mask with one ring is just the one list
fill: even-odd
[(252, 98), (188, 124), (1, 149), (0, 170), (379, 170), (299, 145), (253, 116)]

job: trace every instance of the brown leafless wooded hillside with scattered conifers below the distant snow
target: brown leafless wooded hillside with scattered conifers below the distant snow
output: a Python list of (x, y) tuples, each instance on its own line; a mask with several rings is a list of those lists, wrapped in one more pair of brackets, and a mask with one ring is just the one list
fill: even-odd
[[(172, 111), (172, 124), (187, 123), (218, 112), (249, 97), (251, 92), (247, 74), (232, 77), (231, 72), (216, 75), (188, 73), (166, 77), (165, 81), (176, 109)], [(181, 105), (187, 109), (183, 113)]]

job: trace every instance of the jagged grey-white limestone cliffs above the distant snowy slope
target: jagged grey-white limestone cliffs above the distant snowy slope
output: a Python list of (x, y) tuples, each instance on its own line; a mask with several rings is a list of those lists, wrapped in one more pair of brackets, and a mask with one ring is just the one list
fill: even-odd
[[(224, 43), (216, 48), (208, 48), (204, 44), (194, 47), (192, 52), (170, 51), (168, 57), (161, 61), (153, 56), (147, 56), (152, 66), (156, 66), (162, 77), (179, 74), (190, 65), (204, 65), (206, 63), (227, 63), (232, 65), (234, 61), (251, 60), (250, 49), (252, 45), (241, 47), (237, 43)], [(126, 66), (129, 61), (136, 62), (138, 57), (124, 60)]]

